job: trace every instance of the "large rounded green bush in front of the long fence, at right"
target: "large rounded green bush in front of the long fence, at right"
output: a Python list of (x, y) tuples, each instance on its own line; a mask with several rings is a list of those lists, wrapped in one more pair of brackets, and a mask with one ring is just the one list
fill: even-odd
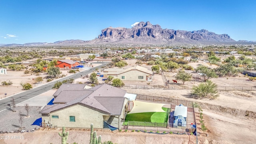
[(210, 80), (206, 80), (205, 83), (201, 83), (198, 86), (192, 88), (192, 94), (198, 96), (198, 98), (210, 98), (215, 99), (218, 95), (217, 84)]

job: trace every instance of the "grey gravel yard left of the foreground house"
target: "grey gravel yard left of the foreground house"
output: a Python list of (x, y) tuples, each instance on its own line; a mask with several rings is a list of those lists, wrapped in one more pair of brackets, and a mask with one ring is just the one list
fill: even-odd
[[(27, 118), (26, 115), (26, 110), (24, 106), (17, 106), (15, 108), (16, 112), (12, 112), (12, 110), (4, 110), (0, 112), (0, 132), (13, 132), (16, 130), (30, 130), (38, 127), (37, 125), (31, 125), (33, 122), (41, 118), (41, 114), (39, 114), (39, 111), (41, 110), (40, 106), (30, 106), (30, 112), (28, 113), (29, 117)], [(23, 118), (23, 123), (22, 127), (20, 128), (20, 122), (19, 122), (19, 111), (24, 114)]]

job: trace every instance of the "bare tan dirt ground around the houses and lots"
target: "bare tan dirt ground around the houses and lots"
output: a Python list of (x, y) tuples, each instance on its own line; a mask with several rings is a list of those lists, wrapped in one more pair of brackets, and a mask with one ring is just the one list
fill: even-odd
[[(126, 68), (135, 66), (136, 60), (127, 60), (128, 66)], [(196, 68), (198, 64), (208, 65), (210, 64), (199, 61), (198, 63), (190, 63), (189, 65)], [(151, 66), (142, 64), (143, 67), (148, 69)], [(214, 65), (212, 66), (214, 67)], [(165, 72), (164, 74), (154, 74), (153, 81), (150, 84), (148, 82), (124, 82), (125, 85), (162, 85), (164, 86), (164, 76), (167, 80), (174, 80), (174, 75), (177, 71)], [(68, 74), (62, 71), (63, 74)], [(12, 86), (0, 86), (0, 97), (4, 98), (4, 93), (7, 96), (22, 92), (20, 82), (33, 82), (34, 75), (26, 75), (23, 72), (7, 71), (7, 75), (0, 76), (0, 82), (3, 80), (11, 80)], [(229, 78), (212, 78), (213, 82), (220, 87), (224, 86), (250, 86), (255, 87), (256, 82), (248, 81), (248, 77), (243, 74), (239, 74), (236, 77)], [(76, 82), (88, 82), (87, 78), (78, 78)], [(101, 80), (99, 80), (101, 82)], [(200, 84), (202, 80), (185, 82), (184, 86), (196, 86)], [(43, 82), (43, 84), (46, 82)], [(178, 81), (178, 86), (182, 85), (182, 82)], [(170, 86), (177, 86), (176, 84), (170, 84)], [(215, 100), (209, 99), (195, 99), (190, 95), (190, 90), (165, 90), (165, 89), (129, 89), (125, 88), (128, 93), (143, 94), (150, 96), (169, 97), (182, 100), (188, 100), (198, 102), (202, 106), (205, 125), (208, 130), (205, 134), (200, 130), (198, 125), (199, 144), (255, 144), (256, 143), (256, 91), (237, 91), (237, 90), (220, 90), (219, 97)], [(11, 93), (10, 93), (11, 92)], [(199, 124), (199, 114), (196, 110), (196, 120)], [(38, 141), (45, 142), (45, 144), (60, 143), (60, 136), (58, 132), (60, 129), (40, 129), (35, 132), (15, 133), (15, 134), (0, 134), (0, 136), (24, 136), (23, 140), (2, 140), (2, 144), (30, 144)], [(89, 142), (89, 130), (68, 130), (70, 132), (68, 142), (78, 142), (78, 144)], [(98, 130), (98, 135), (102, 135), (102, 140), (111, 140), (118, 144), (134, 144), (134, 143), (152, 143), (152, 144), (193, 144), (195, 143), (195, 137), (190, 136), (191, 142), (189, 142), (188, 135), (177, 134), (145, 134), (142, 132), (111, 132), (109, 130)], [(36, 138), (34, 138), (36, 136)]]

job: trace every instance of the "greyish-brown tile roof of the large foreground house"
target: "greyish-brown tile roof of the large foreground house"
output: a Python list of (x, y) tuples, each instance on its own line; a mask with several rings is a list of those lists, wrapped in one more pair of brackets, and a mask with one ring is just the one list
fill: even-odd
[[(54, 104), (56, 106), (46, 106), (40, 113), (50, 114), (50, 112), (60, 110), (70, 105), (81, 104), (106, 114), (121, 115), (126, 90), (108, 84), (101, 84), (90, 89), (84, 89), (84, 86), (85, 84), (62, 84), (54, 93), (54, 95), (57, 96), (54, 102), (66, 103)], [(73, 90), (73, 88), (77, 90)]]

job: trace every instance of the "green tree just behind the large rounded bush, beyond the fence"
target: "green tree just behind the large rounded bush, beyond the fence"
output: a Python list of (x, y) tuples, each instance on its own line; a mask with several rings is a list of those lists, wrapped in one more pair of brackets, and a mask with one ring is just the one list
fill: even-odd
[(210, 78), (217, 78), (217, 74), (213, 69), (209, 69), (207, 66), (200, 65), (196, 68), (196, 70), (200, 73), (202, 73), (202, 77), (204, 78), (204, 81), (210, 79)]

